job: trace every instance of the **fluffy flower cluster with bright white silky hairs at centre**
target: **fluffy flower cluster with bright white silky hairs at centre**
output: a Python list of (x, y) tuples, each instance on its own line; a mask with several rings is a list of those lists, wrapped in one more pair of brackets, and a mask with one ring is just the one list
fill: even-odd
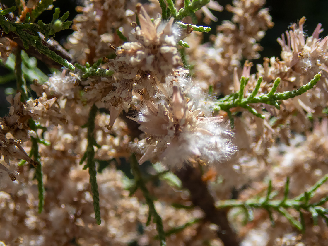
[(168, 103), (144, 100), (144, 104), (134, 120), (146, 138), (132, 147), (143, 150), (140, 164), (159, 160), (171, 168), (180, 168), (187, 162), (216, 166), (236, 151), (231, 142), (233, 133), (218, 125), (222, 117), (198, 116), (201, 111), (191, 110), (193, 102), (187, 102), (177, 86)]

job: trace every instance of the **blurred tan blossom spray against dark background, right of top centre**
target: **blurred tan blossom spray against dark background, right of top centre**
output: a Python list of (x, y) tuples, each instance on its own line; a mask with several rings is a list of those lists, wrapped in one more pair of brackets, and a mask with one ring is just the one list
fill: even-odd
[(260, 57), (262, 47), (258, 42), (274, 25), (264, 0), (235, 0), (232, 4), (226, 6), (233, 13), (232, 21), (224, 20), (217, 26), (213, 45), (202, 44), (196, 32), (186, 39), (191, 47), (186, 50), (189, 64), (195, 64), (195, 80), (205, 90), (211, 85), (214, 92), (223, 95), (231, 93), (233, 71), (235, 67), (241, 71), (241, 60)]

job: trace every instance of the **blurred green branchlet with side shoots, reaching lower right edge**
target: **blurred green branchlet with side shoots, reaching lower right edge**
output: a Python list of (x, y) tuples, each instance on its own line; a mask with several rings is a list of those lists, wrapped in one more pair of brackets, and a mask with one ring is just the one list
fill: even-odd
[[(299, 231), (305, 231), (305, 221), (304, 215), (302, 211), (308, 211), (311, 213), (313, 222), (316, 225), (318, 223), (318, 217), (322, 217), (326, 223), (328, 224), (328, 210), (321, 207), (327, 200), (328, 196), (322, 198), (320, 201), (311, 203), (310, 199), (315, 195), (316, 190), (326, 181), (328, 180), (328, 174), (323, 176), (314, 186), (312, 186), (308, 191), (303, 194), (288, 199), (289, 193), (289, 178), (287, 178), (285, 183), (284, 197), (281, 200), (272, 200), (273, 197), (277, 195), (277, 192), (272, 191), (272, 183), (269, 182), (268, 191), (266, 196), (257, 198), (257, 199), (249, 199), (247, 201), (238, 201), (238, 200), (226, 200), (219, 201), (216, 203), (216, 207), (218, 209), (226, 209), (226, 208), (234, 208), (240, 207), (245, 211), (245, 217), (250, 221), (249, 214), (252, 213), (251, 210), (253, 208), (262, 208), (268, 211), (269, 218), (271, 220), (272, 225), (274, 225), (274, 220), (272, 216), (273, 211), (277, 211), (284, 217), (288, 219), (288, 221), (295, 226)], [(295, 209), (300, 214), (300, 221), (295, 219), (287, 209)]]

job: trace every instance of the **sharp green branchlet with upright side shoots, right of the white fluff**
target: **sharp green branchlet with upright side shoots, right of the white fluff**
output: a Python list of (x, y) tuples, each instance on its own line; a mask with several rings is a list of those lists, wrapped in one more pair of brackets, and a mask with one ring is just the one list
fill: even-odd
[(294, 91), (287, 91), (287, 92), (277, 92), (277, 87), (280, 82), (280, 78), (277, 78), (274, 81), (273, 87), (270, 92), (264, 95), (256, 96), (258, 93), (258, 90), (260, 88), (261, 82), (262, 82), (262, 77), (259, 77), (256, 83), (256, 87), (254, 91), (246, 98), (244, 98), (244, 90), (245, 90), (245, 85), (247, 84), (247, 79), (245, 77), (241, 77), (240, 79), (240, 90), (235, 93), (231, 93), (227, 96), (225, 96), (222, 99), (219, 99), (217, 102), (214, 103), (213, 109), (215, 111), (223, 110), (228, 113), (229, 118), (231, 119), (233, 123), (233, 117), (230, 112), (231, 108), (235, 107), (241, 107), (244, 109), (247, 109), (249, 112), (254, 114), (256, 117), (260, 117), (262, 119), (265, 118), (263, 114), (257, 113), (257, 111), (250, 106), (250, 104), (253, 103), (264, 103), (264, 104), (269, 104), (275, 106), (277, 109), (280, 109), (280, 104), (281, 100), (286, 100), (289, 98), (293, 98), (296, 96), (299, 96), (303, 94), (304, 92), (312, 89), (320, 80), (320, 74), (316, 74), (314, 78), (307, 83), (306, 85), (301, 86), (300, 88), (294, 90)]

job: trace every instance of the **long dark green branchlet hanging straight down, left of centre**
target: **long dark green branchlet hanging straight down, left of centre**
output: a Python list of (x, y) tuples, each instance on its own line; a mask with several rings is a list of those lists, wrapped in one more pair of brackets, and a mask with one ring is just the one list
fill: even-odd
[(83, 164), (85, 160), (87, 160), (87, 164), (84, 165), (83, 169), (86, 170), (88, 168), (89, 170), (89, 175), (90, 175), (90, 185), (91, 185), (91, 191), (92, 191), (92, 199), (93, 199), (93, 211), (94, 211), (94, 216), (96, 219), (96, 222), (98, 225), (101, 223), (101, 218), (100, 218), (100, 205), (99, 205), (99, 192), (98, 192), (98, 184), (97, 184), (97, 178), (96, 178), (96, 165), (94, 161), (94, 145), (98, 146), (96, 144), (96, 140), (94, 138), (94, 120), (97, 114), (98, 108), (93, 105), (90, 109), (89, 113), (89, 118), (88, 122), (86, 124), (86, 127), (88, 128), (88, 133), (87, 133), (87, 139), (88, 139), (88, 146), (87, 150), (84, 153), (83, 157), (81, 158), (80, 165)]

